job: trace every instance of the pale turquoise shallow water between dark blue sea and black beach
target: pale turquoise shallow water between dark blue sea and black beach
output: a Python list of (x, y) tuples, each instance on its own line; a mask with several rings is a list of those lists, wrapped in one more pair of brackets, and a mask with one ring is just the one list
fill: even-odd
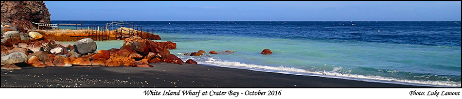
[[(460, 87), (460, 47), (387, 44), (344, 40), (289, 40), (278, 38), (183, 35), (158, 33), (177, 43), (171, 49), (183, 61), (199, 64), (344, 78), (372, 82), (429, 84)], [(69, 42), (65, 42), (69, 43)], [(123, 40), (96, 41), (98, 50), (120, 48)], [(270, 55), (262, 55), (271, 49)], [(214, 50), (222, 54), (185, 56)], [(224, 52), (232, 50), (232, 53)], [(434, 68), (438, 68), (435, 70)], [(458, 69), (458, 70), (454, 70)], [(460, 77), (460, 76), (459, 76)], [(455, 81), (459, 82), (455, 82)]]

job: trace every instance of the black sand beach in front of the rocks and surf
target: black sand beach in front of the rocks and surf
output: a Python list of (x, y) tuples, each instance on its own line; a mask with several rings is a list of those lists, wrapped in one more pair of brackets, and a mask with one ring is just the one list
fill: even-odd
[(1, 87), (426, 87), (204, 65), (23, 67), (1, 70)]

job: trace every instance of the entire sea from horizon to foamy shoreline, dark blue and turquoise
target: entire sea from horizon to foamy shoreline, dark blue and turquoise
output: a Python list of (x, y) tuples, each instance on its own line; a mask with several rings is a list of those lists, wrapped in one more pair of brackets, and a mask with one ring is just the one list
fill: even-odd
[[(82, 22), (106, 26), (111, 21)], [(114, 21), (116, 22), (116, 21)], [(122, 22), (121, 22), (122, 23)], [(369, 82), (461, 87), (461, 21), (124, 21), (199, 64)], [(112, 25), (108, 29), (127, 25)], [(60, 29), (80, 29), (60, 26)], [(121, 40), (98, 41), (98, 49)], [(263, 49), (273, 54), (262, 55)], [(204, 50), (228, 54), (183, 56)]]

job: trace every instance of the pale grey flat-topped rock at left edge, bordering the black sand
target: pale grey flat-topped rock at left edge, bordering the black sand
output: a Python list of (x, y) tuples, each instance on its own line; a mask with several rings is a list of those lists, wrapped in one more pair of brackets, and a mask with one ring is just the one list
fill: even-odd
[(1, 56), (2, 64), (23, 63), (27, 60), (27, 55), (23, 52), (13, 52), (5, 56)]

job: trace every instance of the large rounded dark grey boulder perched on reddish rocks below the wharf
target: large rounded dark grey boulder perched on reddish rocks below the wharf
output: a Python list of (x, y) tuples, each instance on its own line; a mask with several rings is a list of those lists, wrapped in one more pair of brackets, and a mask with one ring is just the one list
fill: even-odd
[(74, 50), (79, 54), (94, 52), (96, 48), (96, 42), (91, 38), (83, 38), (74, 43)]

